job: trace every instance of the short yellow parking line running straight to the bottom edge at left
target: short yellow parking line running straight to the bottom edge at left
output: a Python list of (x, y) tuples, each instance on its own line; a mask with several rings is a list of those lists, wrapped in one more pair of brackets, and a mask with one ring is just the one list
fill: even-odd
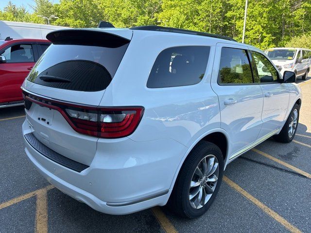
[(37, 192), (36, 212), (35, 212), (35, 232), (48, 232), (48, 203), (47, 190), (41, 189)]

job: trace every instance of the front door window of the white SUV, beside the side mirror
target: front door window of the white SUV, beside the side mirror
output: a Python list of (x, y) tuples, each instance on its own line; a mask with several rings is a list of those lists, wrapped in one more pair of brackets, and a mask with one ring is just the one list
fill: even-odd
[(271, 62), (259, 52), (253, 51), (252, 55), (256, 65), (255, 83), (277, 82), (277, 71)]

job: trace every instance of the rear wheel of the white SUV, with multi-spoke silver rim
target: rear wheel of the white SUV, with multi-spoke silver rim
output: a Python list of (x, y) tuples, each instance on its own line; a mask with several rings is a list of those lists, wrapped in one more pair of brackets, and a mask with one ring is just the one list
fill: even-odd
[(223, 174), (221, 150), (213, 143), (199, 142), (179, 172), (169, 206), (179, 216), (194, 218), (203, 215), (219, 191)]

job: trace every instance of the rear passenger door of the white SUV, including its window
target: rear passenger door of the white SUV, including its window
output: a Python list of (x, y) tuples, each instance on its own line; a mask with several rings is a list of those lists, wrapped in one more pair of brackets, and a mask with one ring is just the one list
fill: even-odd
[(250, 53), (247, 47), (217, 44), (211, 86), (218, 95), (221, 128), (230, 137), (233, 159), (255, 142), (260, 132), (263, 96), (253, 83)]

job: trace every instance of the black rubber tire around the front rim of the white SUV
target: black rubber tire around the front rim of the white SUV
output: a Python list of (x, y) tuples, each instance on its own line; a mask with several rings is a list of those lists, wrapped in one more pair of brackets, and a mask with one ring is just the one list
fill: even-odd
[[(289, 143), (294, 139), (294, 136), (296, 134), (297, 131), (297, 127), (298, 127), (298, 122), (299, 122), (299, 105), (296, 103), (290, 113), (290, 115), (288, 116), (282, 130), (280, 131), (279, 134), (274, 135), (274, 139), (278, 142), (283, 142), (283, 143)], [(292, 134), (292, 136), (290, 136), (289, 134), (289, 130), (290, 130), (290, 123), (294, 118), (294, 111), (297, 110), (297, 123), (296, 123), (296, 127), (294, 129), (294, 133)]]

